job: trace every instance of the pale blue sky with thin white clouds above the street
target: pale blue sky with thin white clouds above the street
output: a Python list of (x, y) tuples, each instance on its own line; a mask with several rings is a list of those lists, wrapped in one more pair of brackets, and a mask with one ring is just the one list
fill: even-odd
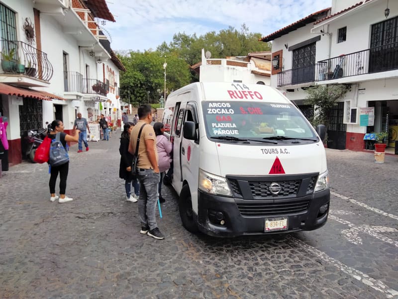
[(155, 50), (173, 35), (185, 32), (199, 37), (229, 26), (262, 36), (331, 6), (332, 0), (106, 0), (116, 22), (106, 21), (115, 51)]

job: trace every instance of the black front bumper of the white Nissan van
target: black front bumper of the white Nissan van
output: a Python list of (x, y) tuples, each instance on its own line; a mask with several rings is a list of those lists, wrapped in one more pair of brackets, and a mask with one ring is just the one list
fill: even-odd
[[(198, 190), (198, 226), (199, 230), (207, 235), (216, 237), (235, 237), (241, 235), (259, 235), (270, 233), (286, 233), (299, 230), (314, 230), (326, 223), (329, 212), (330, 190), (326, 189), (299, 198), (289, 199), (286, 202), (308, 202), (305, 210), (296, 213), (244, 216), (241, 214), (238, 204), (253, 201), (245, 201), (239, 198), (224, 197), (204, 193)], [(257, 201), (256, 203), (267, 203), (270, 201)], [(280, 201), (280, 204), (283, 201)], [(328, 204), (327, 210), (319, 213), (322, 205)], [(213, 211), (222, 212), (225, 223), (214, 221), (209, 218)], [(288, 218), (288, 229), (283, 231), (264, 232), (265, 219)]]

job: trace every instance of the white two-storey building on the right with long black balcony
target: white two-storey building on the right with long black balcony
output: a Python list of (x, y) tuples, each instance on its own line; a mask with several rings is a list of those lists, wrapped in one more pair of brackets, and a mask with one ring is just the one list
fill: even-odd
[[(350, 87), (331, 116), (327, 146), (367, 150), (365, 134), (389, 132), (395, 152), (398, 131), (398, 1), (333, 0), (262, 38), (272, 41), (271, 85), (295, 101), (304, 114), (305, 89), (315, 85)], [(398, 147), (397, 147), (398, 148)]]

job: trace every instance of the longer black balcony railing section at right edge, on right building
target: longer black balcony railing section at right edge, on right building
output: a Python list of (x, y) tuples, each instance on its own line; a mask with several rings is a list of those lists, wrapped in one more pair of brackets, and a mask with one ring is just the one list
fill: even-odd
[(330, 79), (398, 69), (398, 42), (318, 61)]

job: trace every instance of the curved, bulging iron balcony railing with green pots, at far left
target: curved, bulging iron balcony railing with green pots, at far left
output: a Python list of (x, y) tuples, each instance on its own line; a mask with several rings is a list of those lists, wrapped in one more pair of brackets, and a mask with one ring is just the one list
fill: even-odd
[(49, 82), (53, 66), (47, 53), (20, 40), (1, 39), (1, 68), (4, 73), (24, 74)]

